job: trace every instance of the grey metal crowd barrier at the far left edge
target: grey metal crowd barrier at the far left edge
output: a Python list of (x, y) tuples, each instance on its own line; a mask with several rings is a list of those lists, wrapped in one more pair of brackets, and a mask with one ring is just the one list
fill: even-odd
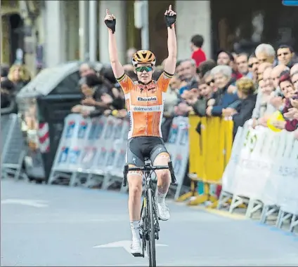
[(21, 172), (26, 155), (25, 142), (17, 114), (1, 116), (1, 178), (26, 178)]

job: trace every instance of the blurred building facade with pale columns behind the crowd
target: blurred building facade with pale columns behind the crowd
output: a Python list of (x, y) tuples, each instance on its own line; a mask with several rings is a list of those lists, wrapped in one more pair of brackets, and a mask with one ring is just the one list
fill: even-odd
[[(108, 8), (117, 18), (117, 46), (119, 58), (127, 62), (126, 51), (135, 47), (141, 49), (141, 30), (134, 26), (134, 0), (128, 1), (37, 1), (37, 18), (34, 20), (33, 37), (27, 38), (24, 32), (18, 34), (11, 25), (10, 14), (20, 14), (23, 19), (18, 25), (27, 24), (20, 10), (21, 1), (1, 1), (1, 62), (13, 62), (15, 49), (25, 50), (25, 62), (32, 68), (37, 61), (44, 62), (43, 67), (72, 60), (99, 60), (109, 62), (108, 31), (103, 22)], [(37, 3), (39, 3), (37, 5)], [(279, 1), (268, 2), (252, 0), (241, 2), (234, 0), (216, 1), (148, 1), (149, 43), (160, 63), (167, 57), (167, 28), (164, 24), (164, 11), (172, 4), (177, 12), (176, 34), (179, 60), (191, 55), (190, 38), (201, 34), (205, 38), (203, 49), (207, 57), (214, 57), (219, 48), (227, 50), (253, 50), (261, 42), (289, 43), (298, 50), (298, 15), (293, 7), (282, 6)], [(297, 13), (297, 11), (296, 11)], [(17, 28), (18, 28), (17, 27)], [(22, 38), (20, 38), (22, 37)], [(22, 41), (25, 39), (25, 41)], [(41, 46), (42, 53), (37, 55), (34, 49), (29, 56), (30, 45)], [(29, 47), (29, 48), (28, 48)], [(38, 60), (36, 58), (38, 57)]]

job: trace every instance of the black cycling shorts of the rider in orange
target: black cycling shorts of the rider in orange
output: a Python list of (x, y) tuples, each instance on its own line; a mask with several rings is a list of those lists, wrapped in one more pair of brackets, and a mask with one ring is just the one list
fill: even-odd
[(168, 153), (162, 138), (132, 137), (127, 142), (127, 164), (143, 167), (144, 158), (150, 158), (153, 164), (155, 158), (162, 152)]

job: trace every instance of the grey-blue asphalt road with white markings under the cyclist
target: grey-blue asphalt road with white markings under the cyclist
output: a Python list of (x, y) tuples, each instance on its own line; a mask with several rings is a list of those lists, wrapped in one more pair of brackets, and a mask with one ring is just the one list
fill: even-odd
[[(160, 223), (158, 266), (298, 264), (297, 235), (169, 207), (171, 219)], [(1, 266), (148, 266), (125, 249), (130, 238), (125, 194), (1, 181)]]

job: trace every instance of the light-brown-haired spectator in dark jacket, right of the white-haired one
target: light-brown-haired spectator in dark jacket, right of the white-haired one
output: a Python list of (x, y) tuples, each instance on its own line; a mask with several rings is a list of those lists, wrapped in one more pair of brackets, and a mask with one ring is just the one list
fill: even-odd
[(254, 82), (247, 77), (240, 78), (236, 82), (237, 94), (240, 98), (240, 104), (235, 109), (228, 107), (223, 109), (225, 117), (233, 118), (233, 136), (235, 137), (238, 127), (242, 127), (246, 121), (252, 118), (252, 111), (256, 104), (257, 95), (254, 94), (256, 88)]

